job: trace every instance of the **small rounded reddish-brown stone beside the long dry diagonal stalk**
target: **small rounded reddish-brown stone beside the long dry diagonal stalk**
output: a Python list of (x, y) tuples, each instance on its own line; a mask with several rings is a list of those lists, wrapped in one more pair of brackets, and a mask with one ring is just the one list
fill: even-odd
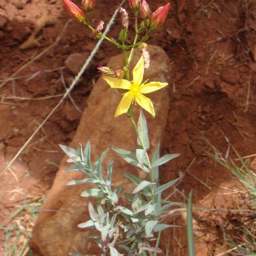
[(81, 67), (83, 67), (87, 57), (87, 53), (72, 53), (65, 60), (65, 66), (70, 72), (76, 75), (81, 70)]

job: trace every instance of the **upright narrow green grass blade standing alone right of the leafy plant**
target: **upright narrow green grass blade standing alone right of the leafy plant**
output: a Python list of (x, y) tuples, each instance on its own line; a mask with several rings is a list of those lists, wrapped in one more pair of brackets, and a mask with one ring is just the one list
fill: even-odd
[(193, 235), (193, 215), (192, 215), (192, 195), (193, 190), (189, 192), (189, 199), (187, 205), (187, 235), (188, 235), (188, 249), (189, 256), (195, 256), (194, 249), (194, 235)]

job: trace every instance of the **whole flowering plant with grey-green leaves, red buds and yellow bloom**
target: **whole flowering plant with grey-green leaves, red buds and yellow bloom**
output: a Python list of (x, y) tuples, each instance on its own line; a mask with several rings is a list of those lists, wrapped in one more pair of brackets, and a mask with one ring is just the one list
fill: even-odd
[[(125, 66), (119, 70), (111, 70), (109, 67), (98, 67), (102, 73), (108, 74), (103, 79), (111, 86), (111, 88), (119, 88), (125, 90), (122, 100), (119, 103), (115, 117), (126, 113), (131, 120), (131, 125), (137, 134), (136, 152), (128, 151), (121, 148), (107, 148), (98, 160), (92, 165), (90, 161), (90, 141), (82, 150), (81, 144), (77, 150), (60, 145), (62, 150), (69, 156), (67, 162), (72, 162), (66, 172), (79, 170), (83, 172), (87, 178), (84, 180), (72, 180), (67, 185), (75, 185), (81, 183), (93, 183), (96, 188), (87, 189), (81, 193), (82, 197), (97, 197), (96, 209), (89, 202), (90, 220), (78, 225), (80, 228), (92, 228), (100, 232), (99, 236), (94, 236), (94, 240), (102, 249), (102, 256), (110, 254), (111, 256), (123, 255), (118, 250), (126, 250), (125, 255), (156, 255), (162, 250), (157, 245), (154, 246), (154, 237), (160, 231), (171, 227), (170, 225), (161, 223), (161, 214), (169, 207), (177, 205), (177, 203), (165, 203), (162, 200), (162, 192), (174, 185), (178, 179), (169, 181), (166, 184), (160, 185), (158, 182), (159, 172), (158, 167), (169, 160), (179, 156), (179, 154), (166, 154), (160, 157), (160, 143), (154, 150), (154, 154), (150, 159), (148, 156), (149, 140), (147, 122), (143, 112), (140, 112), (137, 125), (133, 119), (132, 103), (135, 101), (146, 111), (155, 116), (154, 107), (151, 100), (143, 94), (151, 93), (159, 90), (167, 85), (158, 81), (143, 82), (144, 68), (149, 66), (149, 53), (145, 41), (149, 38), (150, 33), (157, 29), (165, 20), (169, 3), (158, 8), (154, 13), (151, 13), (148, 3), (143, 0), (129, 0), (129, 6), (133, 10), (135, 16), (135, 38), (133, 44), (128, 44), (128, 13), (125, 9), (120, 8), (122, 28), (119, 32), (118, 40), (108, 38), (102, 34), (103, 21), (94, 29), (89, 22), (91, 11), (95, 6), (94, 0), (82, 0), (84, 12), (81, 11), (70, 0), (63, 0), (64, 5), (70, 15), (80, 23), (88, 26), (92, 31), (94, 38), (105, 38), (112, 44), (122, 50), (125, 59)], [(140, 27), (138, 27), (138, 16), (142, 17)], [(139, 39), (139, 35), (142, 36)], [(142, 56), (134, 67), (132, 74), (133, 80), (130, 79), (130, 63), (133, 57), (135, 47), (140, 47)], [(128, 55), (127, 51), (131, 49)], [(125, 77), (125, 79), (124, 79)], [(123, 184), (117, 188), (111, 186), (112, 166), (111, 159), (107, 167), (107, 176), (102, 175), (102, 162), (112, 149), (127, 163), (130, 163), (142, 171), (148, 173), (148, 180), (140, 180), (140, 178), (125, 174), (124, 176), (131, 180), (136, 185), (131, 193), (125, 192), (128, 204), (126, 207), (119, 204), (119, 195), (122, 191)], [(129, 206), (127, 206), (129, 205)], [(159, 241), (159, 239), (158, 239)]]

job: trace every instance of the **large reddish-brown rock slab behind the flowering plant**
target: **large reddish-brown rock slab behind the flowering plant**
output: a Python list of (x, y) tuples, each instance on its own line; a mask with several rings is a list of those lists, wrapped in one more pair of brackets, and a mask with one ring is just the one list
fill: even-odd
[[(151, 55), (150, 67), (145, 70), (143, 80), (169, 81), (170, 84), (168, 56), (163, 49), (157, 46), (149, 47), (149, 52)], [(140, 53), (137, 52), (134, 55), (133, 67), (139, 57)], [(123, 62), (123, 55), (120, 54), (112, 57), (108, 66), (118, 69), (123, 66)], [(113, 117), (121, 100), (121, 93), (120, 90), (111, 89), (102, 79), (102, 76), (99, 78), (90, 94), (87, 102), (88, 106), (84, 109), (73, 141), (70, 143), (71, 147), (77, 148), (79, 143), (85, 145), (87, 140), (90, 140), (93, 161), (109, 145), (132, 151), (136, 150), (136, 135), (130, 120), (125, 114), (117, 118)], [(151, 98), (156, 112), (154, 118), (144, 111), (148, 121), (151, 142), (149, 154), (152, 154), (157, 141), (163, 135), (167, 123), (169, 112), (168, 88), (165, 87), (147, 96)], [(137, 120), (139, 112), (139, 105), (134, 105), (134, 119)], [(131, 190), (131, 183), (122, 176), (123, 173), (132, 173), (141, 178), (145, 177), (146, 173), (144, 171), (128, 165), (113, 152), (108, 153), (106, 162), (110, 156), (114, 158), (113, 186), (125, 182), (124, 190)], [(70, 166), (66, 163), (66, 159), (65, 156), (61, 161), (53, 186), (42, 206), (42, 209), (58, 211), (41, 211), (39, 213), (30, 245), (44, 256), (66, 256), (73, 252), (73, 248), (80, 253), (100, 255), (97, 245), (87, 239), (91, 230), (77, 227), (77, 224), (89, 219), (87, 204), (89, 200), (93, 201), (93, 198), (81, 198), (80, 194), (91, 185), (65, 186), (70, 180), (84, 178), (84, 175), (80, 172), (63, 172)]]

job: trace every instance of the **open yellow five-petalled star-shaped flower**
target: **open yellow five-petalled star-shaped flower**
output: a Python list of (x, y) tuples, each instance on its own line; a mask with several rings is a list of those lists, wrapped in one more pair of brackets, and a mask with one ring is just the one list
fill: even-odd
[(116, 108), (115, 117), (121, 114), (127, 113), (131, 103), (135, 100), (142, 108), (155, 116), (154, 107), (151, 100), (145, 97), (142, 93), (151, 93), (165, 87), (168, 83), (150, 82), (142, 83), (144, 73), (144, 58), (140, 57), (140, 60), (132, 71), (133, 81), (125, 79), (117, 79), (113, 77), (104, 76), (103, 79), (110, 85), (111, 88), (125, 89), (128, 92), (123, 94), (122, 100)]

